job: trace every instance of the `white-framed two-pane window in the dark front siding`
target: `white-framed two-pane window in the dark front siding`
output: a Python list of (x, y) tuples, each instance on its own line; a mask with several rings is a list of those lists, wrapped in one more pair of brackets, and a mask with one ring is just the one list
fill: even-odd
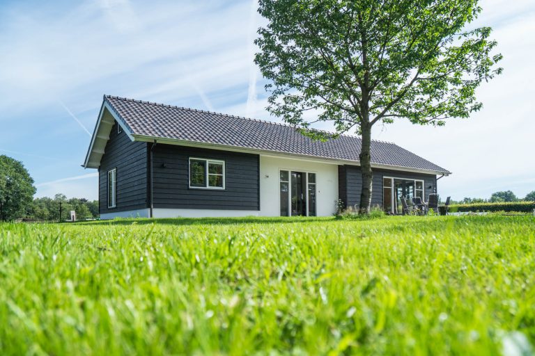
[(189, 159), (189, 188), (225, 188), (225, 162)]

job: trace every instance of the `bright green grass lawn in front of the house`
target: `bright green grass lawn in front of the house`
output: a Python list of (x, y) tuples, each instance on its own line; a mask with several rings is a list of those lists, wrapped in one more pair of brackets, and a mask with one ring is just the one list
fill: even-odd
[(534, 345), (534, 217), (0, 225), (0, 355)]

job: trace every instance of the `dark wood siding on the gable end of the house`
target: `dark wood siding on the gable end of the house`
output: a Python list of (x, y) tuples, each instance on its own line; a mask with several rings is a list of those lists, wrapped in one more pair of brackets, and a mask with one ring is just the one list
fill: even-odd
[[(147, 204), (147, 144), (132, 142), (117, 123), (111, 128), (99, 169), (100, 213), (144, 209)], [(117, 168), (116, 208), (108, 209), (108, 170)]]

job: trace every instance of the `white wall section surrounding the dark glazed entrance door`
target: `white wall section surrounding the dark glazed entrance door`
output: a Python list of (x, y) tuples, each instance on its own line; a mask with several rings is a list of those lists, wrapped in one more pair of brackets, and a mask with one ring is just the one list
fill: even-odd
[(338, 165), (260, 156), (260, 216), (280, 216), (279, 170), (316, 173), (316, 214), (336, 212)]

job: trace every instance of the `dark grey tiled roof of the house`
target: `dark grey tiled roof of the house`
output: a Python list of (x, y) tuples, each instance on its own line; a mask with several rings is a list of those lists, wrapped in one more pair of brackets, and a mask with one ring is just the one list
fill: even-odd
[[(286, 124), (110, 95), (104, 95), (104, 100), (134, 135), (359, 161), (361, 139), (355, 136), (343, 135), (320, 142), (303, 136)], [(449, 173), (394, 143), (377, 140), (371, 143), (371, 161), (379, 165)]]

